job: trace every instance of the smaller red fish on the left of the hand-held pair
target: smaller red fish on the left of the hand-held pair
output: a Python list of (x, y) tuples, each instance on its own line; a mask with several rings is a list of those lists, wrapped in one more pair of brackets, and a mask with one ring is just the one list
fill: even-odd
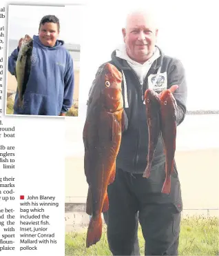
[(149, 135), (149, 146), (147, 153), (147, 167), (143, 173), (143, 177), (148, 178), (151, 173), (154, 152), (158, 143), (160, 134), (160, 99), (154, 90), (147, 89), (145, 91), (145, 105), (147, 114), (147, 126)]

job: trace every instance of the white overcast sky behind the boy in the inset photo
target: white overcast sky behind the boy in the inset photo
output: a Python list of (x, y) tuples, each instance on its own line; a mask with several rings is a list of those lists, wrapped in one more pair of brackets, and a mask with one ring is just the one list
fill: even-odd
[(81, 43), (83, 6), (15, 6), (8, 10), (8, 38), (20, 39), (25, 34), (38, 35), (39, 23), (43, 16), (52, 14), (59, 18), (59, 39), (65, 43)]

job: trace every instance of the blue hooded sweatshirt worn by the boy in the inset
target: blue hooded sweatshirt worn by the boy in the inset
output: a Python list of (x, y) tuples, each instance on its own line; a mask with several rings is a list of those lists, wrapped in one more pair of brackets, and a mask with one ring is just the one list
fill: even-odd
[[(74, 68), (70, 53), (56, 40), (54, 47), (44, 46), (33, 37), (30, 77), (23, 95), (23, 108), (18, 106), (18, 90), (14, 101), (16, 115), (59, 115), (73, 103)], [(18, 48), (8, 58), (8, 70), (15, 75)]]

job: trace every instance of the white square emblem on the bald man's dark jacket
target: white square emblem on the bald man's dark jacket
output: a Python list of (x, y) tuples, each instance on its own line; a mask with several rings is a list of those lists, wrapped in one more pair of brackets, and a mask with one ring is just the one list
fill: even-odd
[(160, 74), (151, 74), (148, 77), (148, 88), (156, 92), (162, 92), (167, 89), (167, 72)]

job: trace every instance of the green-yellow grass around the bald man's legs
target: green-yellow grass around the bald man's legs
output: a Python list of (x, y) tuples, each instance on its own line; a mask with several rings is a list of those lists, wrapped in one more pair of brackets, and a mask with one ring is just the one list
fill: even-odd
[[(181, 221), (179, 255), (219, 255), (218, 217), (187, 217)], [(106, 226), (101, 241), (85, 248), (86, 231), (65, 235), (65, 256), (112, 255), (107, 244)], [(138, 230), (140, 255), (144, 255), (145, 243), (141, 229)]]

